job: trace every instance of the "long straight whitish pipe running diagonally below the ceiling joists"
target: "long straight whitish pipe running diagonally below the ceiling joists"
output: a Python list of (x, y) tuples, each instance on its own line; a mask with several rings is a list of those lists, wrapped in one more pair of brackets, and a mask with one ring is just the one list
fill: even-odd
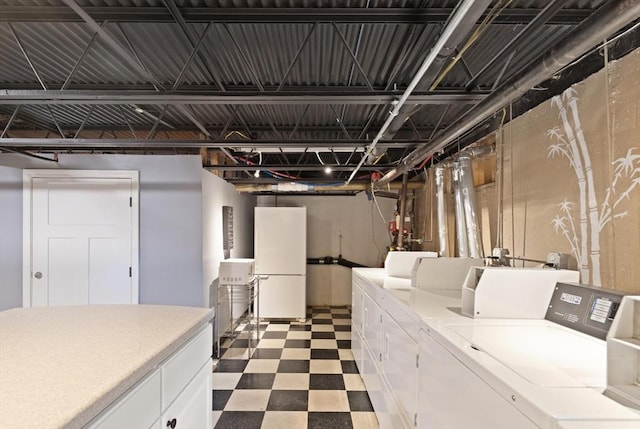
[[(380, 128), (380, 131), (378, 131), (378, 134), (371, 142), (371, 145), (369, 145), (366, 156), (362, 157), (362, 159), (358, 163), (358, 166), (353, 170), (353, 172), (351, 173), (351, 176), (349, 176), (349, 179), (346, 181), (347, 185), (351, 183), (353, 178), (356, 176), (356, 174), (360, 170), (360, 167), (362, 167), (362, 165), (366, 162), (369, 155), (373, 153), (376, 145), (378, 144), (378, 141), (380, 141), (384, 137), (387, 129), (389, 128), (389, 125), (391, 125), (394, 118), (398, 116), (400, 109), (402, 109), (402, 106), (404, 106), (404, 104), (407, 102), (407, 99), (409, 98), (411, 93), (415, 90), (416, 86), (422, 81), (422, 78), (424, 77), (427, 70), (431, 67), (433, 62), (436, 60), (436, 58), (440, 54), (440, 51), (442, 51), (442, 49), (447, 45), (448, 40), (455, 34), (460, 24), (463, 22), (466, 22), (465, 18), (467, 13), (473, 12), (475, 14), (475, 13), (478, 13), (478, 10), (480, 10), (478, 13), (478, 16), (480, 16), (480, 14), (484, 11), (488, 3), (489, 1), (487, 0), (464, 0), (456, 8), (455, 12), (453, 13), (453, 15), (449, 20), (449, 23), (444, 29), (442, 36), (440, 36), (440, 38), (438, 39), (434, 47), (431, 49), (431, 51), (429, 52), (429, 55), (427, 55), (427, 58), (425, 58), (424, 62), (418, 69), (418, 72), (413, 77), (413, 79), (407, 86), (407, 89), (404, 91), (404, 93), (402, 94), (398, 102), (395, 103), (393, 110), (389, 112), (389, 116), (387, 117), (387, 120), (382, 125), (382, 128)], [(477, 20), (477, 17), (474, 18), (473, 22), (475, 22), (476, 20)]]

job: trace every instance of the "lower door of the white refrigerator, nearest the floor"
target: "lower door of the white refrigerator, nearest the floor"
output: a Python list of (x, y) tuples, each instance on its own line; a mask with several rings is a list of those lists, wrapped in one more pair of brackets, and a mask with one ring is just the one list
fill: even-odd
[(260, 280), (258, 315), (266, 319), (306, 317), (306, 276), (274, 276)]

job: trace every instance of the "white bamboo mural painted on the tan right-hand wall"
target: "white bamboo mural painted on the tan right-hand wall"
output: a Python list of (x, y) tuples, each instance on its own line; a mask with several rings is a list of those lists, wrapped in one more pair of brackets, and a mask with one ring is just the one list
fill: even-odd
[(630, 200), (631, 192), (640, 185), (640, 155), (636, 155), (637, 148), (630, 148), (626, 156), (613, 161), (613, 178), (599, 201), (575, 88), (553, 97), (551, 104), (558, 110), (561, 125), (546, 132), (552, 140), (547, 157), (568, 160), (576, 175), (579, 199), (577, 210), (575, 202), (567, 198), (558, 204), (559, 213), (552, 220), (553, 230), (571, 246), (582, 282), (600, 286), (600, 233), (613, 218), (628, 215), (628, 211), (622, 209)]

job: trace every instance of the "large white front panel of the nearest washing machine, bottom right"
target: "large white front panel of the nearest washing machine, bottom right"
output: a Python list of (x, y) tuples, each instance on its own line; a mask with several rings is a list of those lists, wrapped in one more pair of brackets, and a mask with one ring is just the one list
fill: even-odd
[(419, 428), (536, 428), (425, 331), (420, 331), (418, 397)]

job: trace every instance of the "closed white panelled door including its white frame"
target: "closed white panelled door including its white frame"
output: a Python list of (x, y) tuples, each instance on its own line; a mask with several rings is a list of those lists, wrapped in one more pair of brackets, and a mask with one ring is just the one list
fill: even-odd
[(25, 171), (25, 306), (136, 304), (137, 172)]

